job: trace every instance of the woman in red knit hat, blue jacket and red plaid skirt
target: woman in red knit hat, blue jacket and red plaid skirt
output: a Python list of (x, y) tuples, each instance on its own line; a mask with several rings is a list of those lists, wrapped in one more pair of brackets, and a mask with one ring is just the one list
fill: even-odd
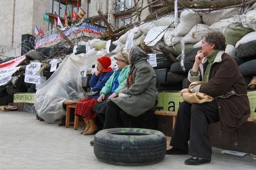
[[(111, 59), (107, 56), (102, 56), (97, 59), (97, 69), (89, 82), (91, 91), (100, 91), (105, 85), (109, 77), (114, 72), (110, 65)], [(81, 134), (87, 131), (95, 132), (97, 130), (97, 125), (95, 123), (95, 117), (97, 116), (97, 113), (93, 112), (93, 107), (99, 96), (99, 94), (96, 94), (92, 97), (86, 97), (85, 99), (76, 103), (74, 114), (83, 117), (86, 123), (86, 128), (81, 132)]]

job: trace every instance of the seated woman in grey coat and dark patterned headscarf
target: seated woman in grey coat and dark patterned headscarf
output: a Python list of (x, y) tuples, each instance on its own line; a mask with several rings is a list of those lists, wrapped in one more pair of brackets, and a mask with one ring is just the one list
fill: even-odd
[(134, 47), (129, 59), (131, 71), (119, 97), (107, 102), (103, 129), (123, 126), (121, 110), (137, 117), (155, 105), (157, 78), (153, 67), (147, 62), (149, 56), (139, 47)]

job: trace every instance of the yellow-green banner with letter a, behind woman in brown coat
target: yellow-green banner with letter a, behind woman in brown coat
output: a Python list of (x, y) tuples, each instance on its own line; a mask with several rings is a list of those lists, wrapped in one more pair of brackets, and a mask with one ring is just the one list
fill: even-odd
[[(251, 117), (256, 118), (256, 91), (248, 91), (247, 95), (250, 102)], [(167, 111), (178, 111), (179, 105), (183, 101), (180, 92), (177, 91), (159, 92), (157, 100), (157, 106), (161, 106), (163, 110)]]

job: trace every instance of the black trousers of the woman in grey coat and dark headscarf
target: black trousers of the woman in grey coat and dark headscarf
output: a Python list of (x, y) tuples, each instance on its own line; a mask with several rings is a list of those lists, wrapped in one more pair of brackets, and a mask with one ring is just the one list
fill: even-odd
[(111, 100), (107, 101), (106, 113), (97, 113), (101, 121), (104, 123), (103, 129), (114, 127), (123, 127), (123, 121), (120, 115), (120, 107)]

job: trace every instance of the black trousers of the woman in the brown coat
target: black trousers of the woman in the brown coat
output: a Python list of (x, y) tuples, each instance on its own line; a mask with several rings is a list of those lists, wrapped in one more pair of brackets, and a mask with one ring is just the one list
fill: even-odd
[[(199, 158), (211, 159), (208, 128), (219, 121), (217, 102), (190, 104), (183, 101), (178, 109), (170, 145)], [(188, 148), (188, 141), (189, 148)]]

